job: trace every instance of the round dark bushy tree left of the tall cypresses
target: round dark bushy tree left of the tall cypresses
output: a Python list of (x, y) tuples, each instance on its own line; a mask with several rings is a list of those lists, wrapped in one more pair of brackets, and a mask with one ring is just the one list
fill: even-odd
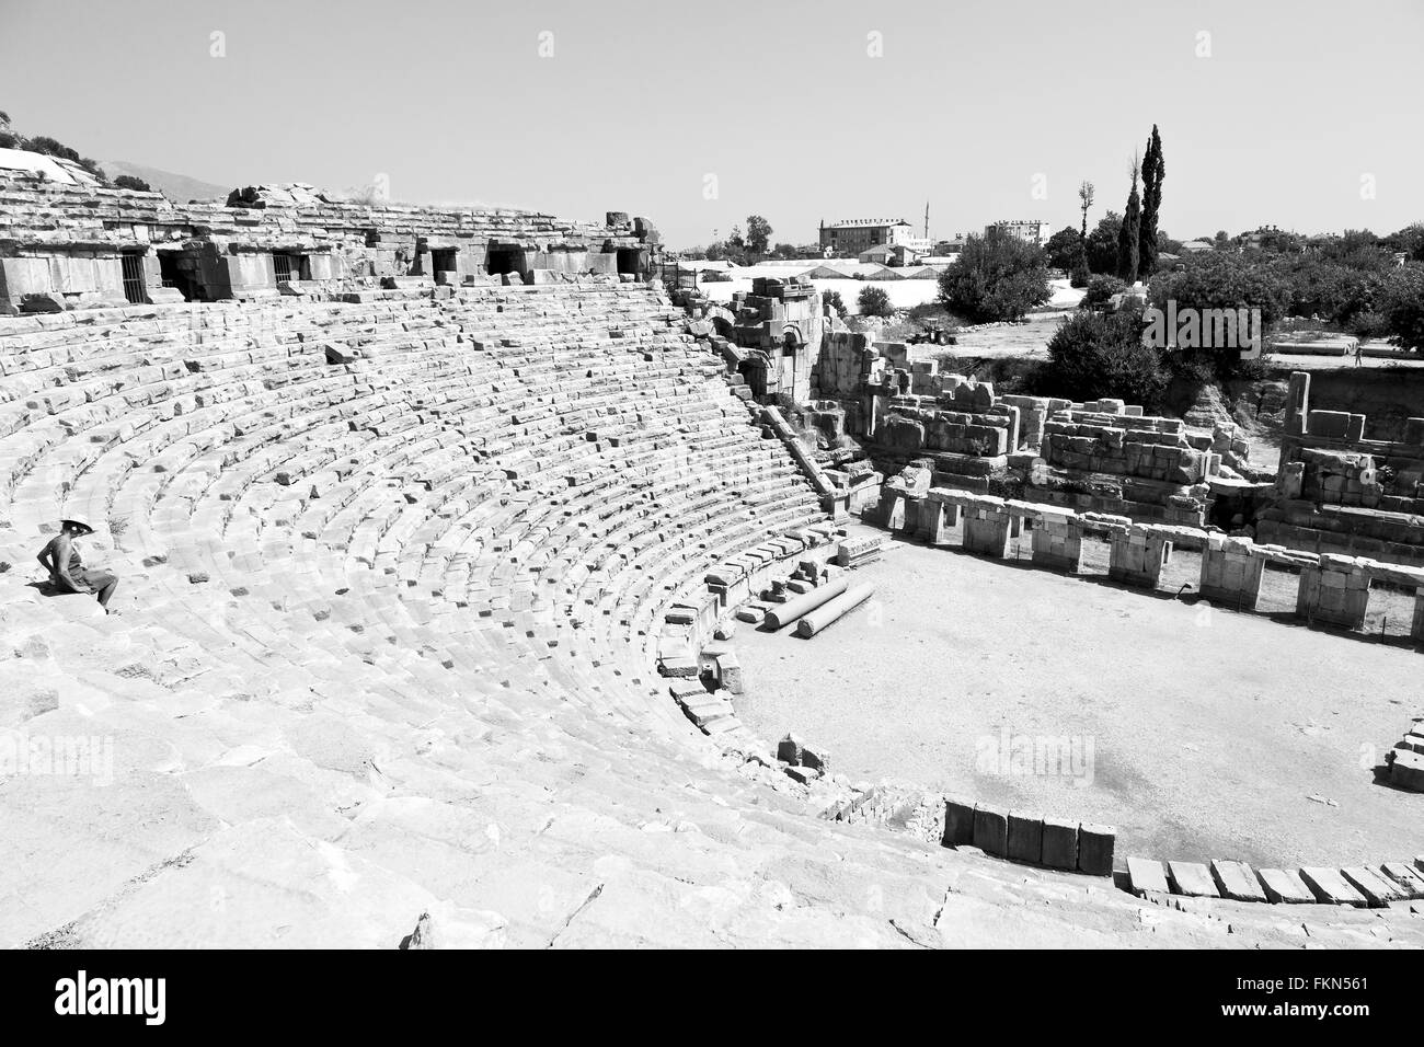
[(1044, 252), (1012, 236), (970, 236), (940, 274), (940, 301), (973, 323), (1017, 321), (1049, 296)]

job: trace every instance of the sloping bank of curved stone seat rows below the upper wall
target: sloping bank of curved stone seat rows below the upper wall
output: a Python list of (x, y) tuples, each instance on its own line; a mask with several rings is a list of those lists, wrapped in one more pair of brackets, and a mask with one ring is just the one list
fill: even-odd
[[(577, 293), (568, 301), (597, 313), (597, 295)], [(497, 329), (508, 302), (487, 299), (463, 305)], [(652, 675), (661, 613), (705, 590), (693, 564), (824, 517), (778, 443), (706, 380), (716, 369), (672, 336), (661, 296), (644, 299), (618, 296), (629, 336), (609, 340), (654, 360), (609, 356), (597, 380), (641, 393), (644, 376), (678, 377), (659, 355), (681, 360), (689, 392), (642, 397), (649, 429), (666, 434), (568, 433), (547, 453), (530, 446), (541, 436), (508, 434), (498, 409), (524, 395), (515, 355), (503, 368), (478, 359), (463, 322), (427, 301), (289, 306), (268, 333), (239, 336), (292, 379), (273, 385), (222, 333), (242, 326), (241, 308), (195, 309), (208, 319), (181, 325), (177, 308), (121, 311), (95, 340), (155, 323), (142, 366), (169, 373), (85, 385), (83, 405), (27, 415), (43, 439), (31, 443), (30, 424), (0, 437), (6, 496), (23, 491), (0, 523), (0, 560), (17, 566), (0, 574), (0, 692), (13, 695), (0, 722), (112, 741), (104, 792), (75, 775), (0, 775), (0, 830), (21, 842), (0, 873), (0, 939), (394, 946), (429, 910), (450, 944), (967, 944), (998, 939), (1030, 907), (1025, 933), (1040, 942), (1283, 934), (1260, 923), (1227, 937), (1225, 923), (1173, 913), (1149, 930), (1109, 892), (809, 819), (799, 793), (769, 788), (775, 772), (721, 761)], [(75, 359), (87, 358), (85, 325), (44, 319), (75, 332)], [(422, 323), (419, 339), (406, 322)], [(11, 330), (0, 322), (0, 359), (26, 339)], [(386, 340), (369, 340), (377, 332)], [(382, 352), (387, 342), (402, 348)], [(115, 412), (84, 420), (81, 406), (110, 399)], [(702, 412), (708, 402), (718, 412)], [(416, 424), (400, 420), (403, 403)], [(144, 410), (147, 424), (88, 439)], [(705, 417), (684, 427), (684, 415)], [(565, 449), (582, 452), (575, 483)], [(735, 463), (726, 476), (722, 463)], [(662, 476), (689, 466), (688, 484)], [(699, 483), (699, 469), (716, 480)], [(618, 530), (587, 540), (561, 526), (639, 496), (652, 511)], [(122, 574), (122, 617), (16, 584), (66, 509), (101, 528), (94, 558)], [(693, 511), (702, 526), (671, 526)], [(515, 600), (521, 583), (545, 584), (540, 571), (498, 573), (518, 544), (521, 566), (557, 585), (560, 557), (584, 561), (600, 540), (618, 544), (601, 581), (591, 571), (570, 594), (600, 611), (582, 625), (572, 603)], [(1381, 926), (1313, 929), (1312, 940)]]

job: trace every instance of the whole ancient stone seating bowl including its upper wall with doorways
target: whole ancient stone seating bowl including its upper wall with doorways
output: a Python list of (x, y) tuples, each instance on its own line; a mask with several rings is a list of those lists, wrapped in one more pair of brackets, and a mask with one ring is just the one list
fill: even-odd
[[(238, 204), (0, 195), (4, 944), (1424, 942), (948, 849), (934, 798), (699, 729), (658, 661), (709, 573), (839, 536), (651, 226)], [(273, 249), (306, 268), (263, 283)], [(121, 614), (37, 584), (61, 517)]]

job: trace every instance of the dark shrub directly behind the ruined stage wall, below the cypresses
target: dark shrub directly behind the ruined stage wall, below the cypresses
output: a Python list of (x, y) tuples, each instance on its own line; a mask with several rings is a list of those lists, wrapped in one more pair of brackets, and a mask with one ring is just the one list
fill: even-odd
[(1142, 342), (1141, 318), (1089, 311), (1069, 316), (1049, 339), (1042, 385), (1052, 396), (1112, 396), (1156, 409), (1169, 377), (1162, 353)]

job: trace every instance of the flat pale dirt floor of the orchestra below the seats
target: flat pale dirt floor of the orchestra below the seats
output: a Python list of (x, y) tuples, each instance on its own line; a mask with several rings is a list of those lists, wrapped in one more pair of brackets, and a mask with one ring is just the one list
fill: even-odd
[[(1373, 768), (1424, 714), (1413, 597), (1376, 593), (1368, 635), (1198, 601), (1199, 558), (1156, 593), (894, 543), (874, 598), (812, 640), (736, 635), (743, 721), (795, 731), (853, 779), (899, 778), (1118, 826), (1118, 855), (1346, 865), (1424, 853), (1424, 796)], [(1106, 544), (1085, 550), (1106, 570)], [(1381, 635), (1383, 630), (1383, 635)]]

